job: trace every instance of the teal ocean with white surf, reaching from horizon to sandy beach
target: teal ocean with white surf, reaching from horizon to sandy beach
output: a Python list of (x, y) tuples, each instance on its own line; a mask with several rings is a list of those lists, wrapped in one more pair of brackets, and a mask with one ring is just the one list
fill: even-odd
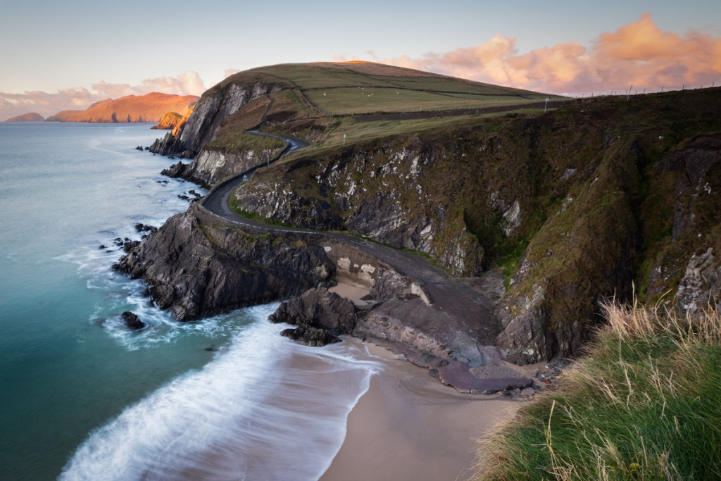
[(278, 304), (176, 322), (112, 270), (203, 193), (149, 127), (0, 123), (0, 480), (316, 480), (382, 366), (281, 337)]

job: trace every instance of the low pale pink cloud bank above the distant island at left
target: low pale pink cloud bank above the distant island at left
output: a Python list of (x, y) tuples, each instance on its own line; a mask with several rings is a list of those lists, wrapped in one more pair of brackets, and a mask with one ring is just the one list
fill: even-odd
[(55, 93), (32, 91), (22, 94), (6, 94), (0, 92), (0, 120), (27, 112), (37, 112), (43, 117), (48, 117), (61, 110), (84, 110), (92, 103), (107, 98), (118, 99), (127, 95), (144, 95), (150, 92), (200, 95), (205, 92), (205, 85), (198, 76), (198, 72), (187, 71), (177, 77), (145, 79), (141, 84), (135, 86), (99, 81), (97, 84), (92, 84), (92, 89), (74, 87), (61, 89)]

